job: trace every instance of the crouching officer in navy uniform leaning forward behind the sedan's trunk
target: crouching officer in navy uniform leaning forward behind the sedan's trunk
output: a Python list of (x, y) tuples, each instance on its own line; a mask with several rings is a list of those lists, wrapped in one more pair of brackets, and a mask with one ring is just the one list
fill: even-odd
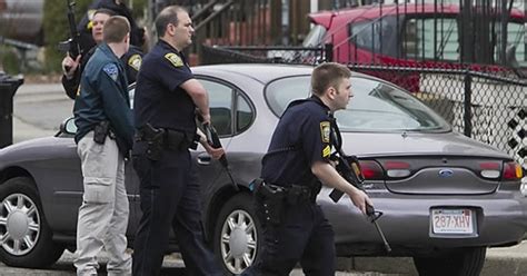
[(312, 96), (291, 102), (275, 129), (256, 181), (256, 211), (264, 228), (262, 250), (242, 275), (289, 275), (300, 262), (306, 275), (335, 275), (331, 225), (316, 197), (321, 183), (346, 193), (366, 214), (368, 196), (332, 167), (331, 116), (350, 97), (350, 71), (322, 63), (311, 76)]

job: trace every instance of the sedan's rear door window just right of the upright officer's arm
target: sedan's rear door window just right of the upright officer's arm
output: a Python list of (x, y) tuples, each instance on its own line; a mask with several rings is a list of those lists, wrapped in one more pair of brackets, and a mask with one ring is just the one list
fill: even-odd
[(233, 89), (211, 80), (199, 80), (209, 93), (210, 119), (219, 136), (232, 135)]

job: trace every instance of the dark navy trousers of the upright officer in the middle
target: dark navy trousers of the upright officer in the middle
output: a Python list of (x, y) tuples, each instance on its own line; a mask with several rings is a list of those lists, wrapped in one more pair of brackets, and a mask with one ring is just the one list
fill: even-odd
[(158, 161), (151, 161), (145, 155), (135, 156), (133, 167), (140, 179), (143, 213), (135, 241), (141, 255), (133, 255), (133, 275), (159, 275), (170, 228), (177, 237), (188, 275), (218, 275), (220, 269), (215, 256), (205, 245), (200, 187), (190, 152), (165, 149)]

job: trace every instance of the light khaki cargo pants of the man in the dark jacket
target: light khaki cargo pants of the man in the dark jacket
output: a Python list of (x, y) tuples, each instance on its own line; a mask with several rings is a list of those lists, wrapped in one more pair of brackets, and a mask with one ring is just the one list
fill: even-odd
[(77, 224), (77, 275), (97, 275), (97, 255), (108, 253), (108, 275), (131, 275), (127, 249), (128, 197), (125, 187), (125, 160), (109, 137), (103, 145), (93, 141), (93, 132), (77, 146), (81, 159), (84, 194)]

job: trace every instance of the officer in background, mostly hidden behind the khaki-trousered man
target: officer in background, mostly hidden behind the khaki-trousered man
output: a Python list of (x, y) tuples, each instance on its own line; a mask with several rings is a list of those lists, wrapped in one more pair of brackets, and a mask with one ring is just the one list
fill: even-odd
[[(109, 9), (99, 9), (93, 13), (91, 22), (91, 34), (90, 37), (97, 43), (102, 41), (102, 26), (106, 20), (116, 13)], [(81, 43), (82, 45), (82, 43)], [(86, 47), (86, 45), (83, 45)], [(88, 63), (88, 60), (96, 51), (97, 47), (91, 47), (88, 52), (84, 52), (73, 60), (70, 56), (66, 56), (62, 60), (62, 87), (66, 90), (66, 95), (70, 99), (74, 99), (78, 93), (80, 76)], [(121, 57), (121, 61), (125, 65), (126, 75), (129, 83), (136, 81), (136, 76), (139, 72), (139, 67), (142, 62), (142, 52), (138, 47), (130, 46), (129, 50)]]

